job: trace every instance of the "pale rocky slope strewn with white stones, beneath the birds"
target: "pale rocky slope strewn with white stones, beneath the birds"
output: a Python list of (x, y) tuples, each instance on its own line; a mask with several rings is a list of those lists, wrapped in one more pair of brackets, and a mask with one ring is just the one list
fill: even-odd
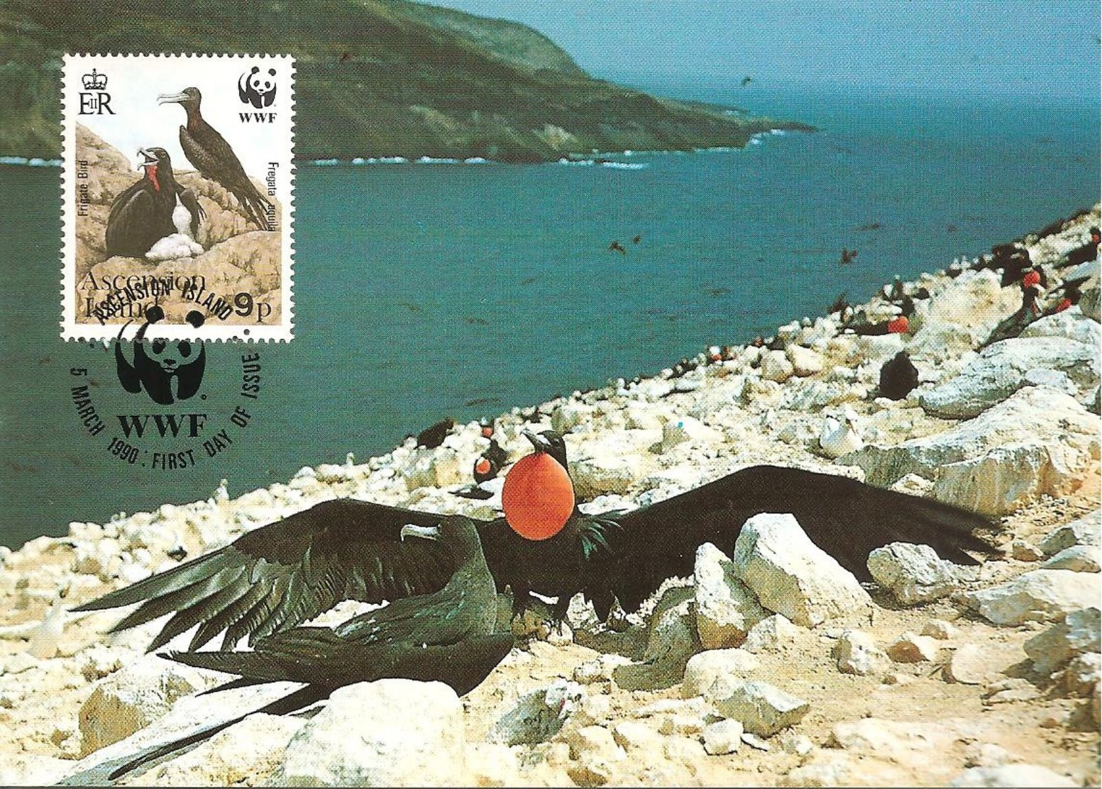
[[(1025, 239), (1050, 285), (1098, 222), (1095, 207)], [(838, 316), (806, 319), (778, 331), (784, 350), (734, 349), (683, 374), (514, 409), (497, 436), (516, 459), (529, 420), (565, 432), (591, 511), (784, 463), (982, 512), (1003, 557), (965, 571), (895, 544), (874, 552), (880, 583), (863, 589), (790, 517), (759, 516), (734, 557), (702, 547), (694, 577), (666, 584), (623, 628), (595, 623), (580, 600), (562, 632), (527, 622), (539, 637), (463, 699), (435, 683), (353, 686), (313, 716), (251, 715), (128, 781), (1096, 786), (1096, 280), (1081, 307), (982, 352), (1020, 304), (1016, 284), (965, 270), (907, 287), (929, 292), (908, 335), (855, 337), (839, 333)], [(880, 299), (866, 309), (890, 311)], [(904, 348), (920, 385), (877, 397), (883, 362)], [(143, 656), (160, 622), (105, 635), (119, 613), (65, 606), (336, 496), (495, 515), (499, 497), (450, 492), (485, 445), (477, 425), (460, 426), (435, 450), (408, 440), (366, 463), (304, 468), (285, 485), (237, 497), (223, 485), (204, 502), (3, 549), (0, 781), (52, 782), (285, 692), (196, 698), (224, 677)]]

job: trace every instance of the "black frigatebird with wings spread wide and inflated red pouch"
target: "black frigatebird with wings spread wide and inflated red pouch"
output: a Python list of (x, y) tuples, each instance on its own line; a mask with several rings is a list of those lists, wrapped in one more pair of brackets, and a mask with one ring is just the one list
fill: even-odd
[[(537, 453), (566, 468), (562, 436), (526, 435)], [(538, 489), (530, 495), (536, 509), (561, 505), (538, 501)], [(558, 618), (577, 592), (603, 620), (614, 595), (633, 612), (666, 579), (691, 574), (700, 545), (713, 543), (731, 555), (743, 524), (758, 513), (791, 513), (820, 548), (861, 580), (872, 580), (868, 552), (889, 543), (926, 544), (964, 565), (976, 563), (964, 549), (991, 552), (972, 534), (991, 525), (979, 515), (777, 465), (745, 468), (633, 512), (584, 515), (572, 498), (565, 512), (561, 530), (541, 540), (521, 537), (510, 526), (508, 508), (505, 517), (475, 522), (498, 590), (512, 589), (515, 613), (530, 602), (529, 592), (558, 596)], [(175, 612), (150, 649), (196, 624), (192, 649), (223, 631), (222, 648), (228, 649), (245, 636), (251, 643), (293, 627), (341, 600), (392, 601), (442, 588), (454, 570), (446, 554), (423, 540), (399, 540), (403, 525), (429, 526), (442, 517), (352, 498), (322, 502), (76, 611), (142, 603), (114, 629)]]

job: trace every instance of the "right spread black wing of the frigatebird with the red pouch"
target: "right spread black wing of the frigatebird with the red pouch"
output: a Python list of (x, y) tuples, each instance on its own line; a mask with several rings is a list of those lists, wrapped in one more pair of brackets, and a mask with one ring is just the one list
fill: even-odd
[(667, 578), (691, 574), (704, 543), (730, 556), (743, 524), (758, 513), (791, 513), (815, 545), (861, 580), (872, 580), (868, 552), (889, 543), (929, 545), (961, 565), (976, 563), (965, 549), (992, 550), (972, 534), (991, 527), (974, 513), (845, 476), (753, 465), (619, 516), (612, 587), (620, 605), (634, 611)]

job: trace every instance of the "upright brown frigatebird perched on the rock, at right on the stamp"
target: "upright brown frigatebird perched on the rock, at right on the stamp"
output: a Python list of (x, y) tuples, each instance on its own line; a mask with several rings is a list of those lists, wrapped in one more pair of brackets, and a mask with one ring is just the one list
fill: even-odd
[(249, 179), (226, 138), (203, 119), (203, 95), (198, 88), (184, 88), (179, 94), (159, 96), (156, 102), (177, 103), (184, 108), (187, 123), (180, 127), (180, 146), (184, 149), (187, 161), (205, 178), (217, 182), (234, 195), (249, 221), (261, 230), (271, 230), (271, 201)]

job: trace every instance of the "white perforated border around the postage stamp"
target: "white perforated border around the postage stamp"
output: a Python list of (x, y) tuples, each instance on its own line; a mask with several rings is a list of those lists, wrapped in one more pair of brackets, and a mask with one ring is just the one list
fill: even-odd
[[(75, 265), (69, 265), (69, 255), (76, 255), (76, 211), (74, 204), (68, 196), (76, 188), (74, 178), (69, 175), (69, 165), (76, 161), (76, 122), (67, 112), (65, 96), (65, 75), (73, 58), (76, 57), (153, 57), (153, 58), (177, 58), (177, 57), (204, 57), (204, 58), (226, 58), (230, 59), (277, 59), (290, 67), (290, 182), (288, 188), (287, 205), (283, 207), (285, 217), (280, 228), (282, 234), (282, 246), (287, 253), (282, 255), (280, 269), (280, 282), (285, 283), (281, 289), (280, 322), (271, 326), (216, 326), (207, 322), (203, 327), (202, 335), (188, 326), (161, 326), (156, 325), (155, 331), (150, 332), (150, 337), (156, 336), (173, 340), (214, 340), (214, 341), (246, 341), (246, 342), (290, 342), (294, 339), (294, 198), (295, 177), (298, 168), (294, 164), (294, 138), (298, 105), (295, 102), (294, 84), (298, 76), (294, 57), (288, 54), (266, 54), (266, 53), (119, 53), (119, 52), (66, 52), (62, 56), (61, 88), (58, 95), (62, 106), (62, 175), (61, 175), (61, 211), (62, 211), (62, 246), (61, 246), (61, 336), (63, 340), (94, 341), (112, 340), (118, 336), (119, 327), (116, 325), (95, 326), (93, 324), (78, 324), (74, 315), (74, 302), (68, 295), (76, 289)], [(152, 327), (151, 327), (152, 328)]]

